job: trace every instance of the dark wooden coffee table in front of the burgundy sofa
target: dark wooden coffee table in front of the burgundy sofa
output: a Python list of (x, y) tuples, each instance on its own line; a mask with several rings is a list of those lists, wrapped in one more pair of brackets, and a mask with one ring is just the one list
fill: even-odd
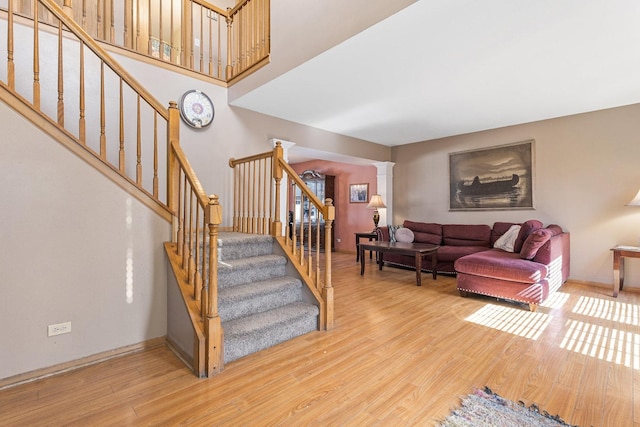
[(358, 250), (360, 251), (360, 275), (364, 274), (364, 251), (376, 251), (378, 256), (379, 269), (382, 270), (384, 263), (384, 254), (412, 255), (416, 258), (416, 284), (422, 286), (422, 258), (426, 255), (431, 257), (431, 271), (433, 272), (433, 280), (436, 280), (436, 265), (438, 264), (438, 248), (437, 245), (429, 245), (426, 243), (402, 243), (402, 242), (363, 242), (360, 243)]

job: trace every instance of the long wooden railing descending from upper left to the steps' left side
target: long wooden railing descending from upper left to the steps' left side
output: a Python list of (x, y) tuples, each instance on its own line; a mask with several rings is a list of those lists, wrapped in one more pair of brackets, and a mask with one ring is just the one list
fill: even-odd
[[(173, 241), (165, 246), (181, 289), (191, 288), (185, 299), (193, 308), (193, 369), (199, 376), (220, 372), (216, 243), (222, 209), (216, 196), (205, 195), (180, 148), (176, 103), (164, 108), (57, 4), (38, 0), (32, 16), (49, 23), (15, 16), (9, 2), (0, 98), (172, 221)], [(67, 79), (65, 71), (74, 76)]]

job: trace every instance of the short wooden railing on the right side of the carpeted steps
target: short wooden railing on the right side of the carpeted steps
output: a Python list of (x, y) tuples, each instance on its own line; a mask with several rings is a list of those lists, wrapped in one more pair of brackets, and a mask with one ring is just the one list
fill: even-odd
[[(296, 268), (303, 282), (315, 296), (320, 306), (320, 328), (330, 330), (334, 325), (333, 287), (331, 285), (331, 229), (335, 219), (333, 200), (324, 201), (309, 190), (298, 174), (284, 160), (280, 142), (273, 151), (242, 159), (230, 159), (234, 170), (233, 230), (242, 233), (269, 234), (280, 244), (283, 251)], [(287, 177), (287, 191), (282, 194), (281, 183)], [(295, 200), (295, 188), (301, 193), (301, 200)], [(284, 201), (281, 203), (281, 198)], [(309, 202), (318, 212), (318, 220), (324, 221), (324, 253), (320, 245), (320, 227), (312, 238), (311, 218), (307, 218), (306, 235), (304, 218), (296, 217), (300, 210), (296, 203)], [(283, 209), (282, 206), (286, 208)], [(293, 218), (282, 227), (282, 216), (292, 212)], [(296, 226), (300, 224), (300, 226)], [(291, 236), (291, 237), (290, 237)]]

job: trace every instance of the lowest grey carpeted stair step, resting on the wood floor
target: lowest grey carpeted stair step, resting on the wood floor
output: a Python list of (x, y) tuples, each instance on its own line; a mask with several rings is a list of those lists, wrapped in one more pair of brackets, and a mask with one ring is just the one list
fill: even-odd
[(317, 306), (296, 302), (223, 322), (225, 363), (317, 330), (318, 313)]

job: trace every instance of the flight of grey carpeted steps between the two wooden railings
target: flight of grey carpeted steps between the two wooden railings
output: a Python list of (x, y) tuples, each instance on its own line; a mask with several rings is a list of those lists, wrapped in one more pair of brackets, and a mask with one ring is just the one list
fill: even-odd
[(318, 330), (318, 307), (304, 301), (302, 282), (287, 275), (287, 259), (273, 244), (265, 235), (218, 236), (225, 363)]

